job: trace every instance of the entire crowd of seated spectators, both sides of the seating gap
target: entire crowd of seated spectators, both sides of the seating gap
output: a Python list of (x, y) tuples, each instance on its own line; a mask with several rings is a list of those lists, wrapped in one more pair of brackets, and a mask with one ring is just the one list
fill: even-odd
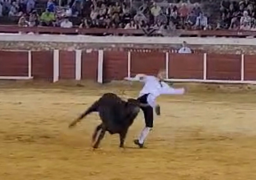
[[(154, 31), (175, 29), (243, 29), (256, 31), (255, 0), (222, 0), (221, 17), (217, 24), (209, 24), (200, 4), (188, 1), (161, 6), (148, 1), (136, 11), (125, 2), (111, 0), (48, 0), (39, 15), (35, 5), (39, 0), (0, 0), (0, 17), (20, 17), (19, 26), (57, 26), (71, 28), (143, 29), (148, 35)], [(61, 6), (59, 6), (59, 3)], [(72, 22), (82, 19), (80, 24)]]

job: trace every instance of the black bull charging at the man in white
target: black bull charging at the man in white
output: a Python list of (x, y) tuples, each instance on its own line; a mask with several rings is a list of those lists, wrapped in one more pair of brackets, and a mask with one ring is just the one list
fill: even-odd
[[(135, 99), (128, 99), (123, 101), (120, 97), (113, 93), (106, 93), (100, 99), (95, 101), (83, 114), (70, 123), (69, 128), (73, 127), (91, 112), (98, 112), (102, 123), (98, 125), (93, 133), (92, 142), (93, 148), (97, 148), (100, 141), (108, 131), (110, 134), (119, 134), (120, 145), (124, 147), (124, 140), (126, 138), (129, 127), (137, 117), (140, 107), (147, 106), (139, 103)], [(98, 136), (98, 138), (96, 138)]]

